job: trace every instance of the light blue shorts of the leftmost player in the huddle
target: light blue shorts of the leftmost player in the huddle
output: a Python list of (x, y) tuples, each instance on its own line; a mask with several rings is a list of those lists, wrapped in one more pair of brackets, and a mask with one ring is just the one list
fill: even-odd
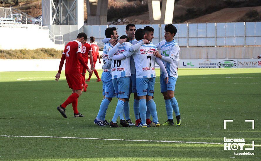
[(102, 95), (105, 97), (113, 98), (115, 97), (115, 91), (113, 88), (111, 74), (110, 72), (102, 72), (101, 74), (102, 81)]

